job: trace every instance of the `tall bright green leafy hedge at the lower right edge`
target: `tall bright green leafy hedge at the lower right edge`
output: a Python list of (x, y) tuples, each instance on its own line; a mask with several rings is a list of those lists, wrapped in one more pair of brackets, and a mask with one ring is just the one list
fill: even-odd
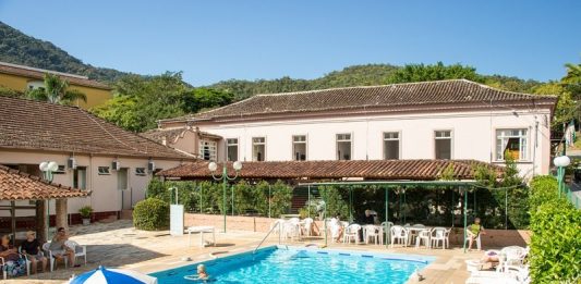
[(531, 276), (534, 283), (581, 280), (581, 211), (559, 198), (553, 176), (531, 183)]

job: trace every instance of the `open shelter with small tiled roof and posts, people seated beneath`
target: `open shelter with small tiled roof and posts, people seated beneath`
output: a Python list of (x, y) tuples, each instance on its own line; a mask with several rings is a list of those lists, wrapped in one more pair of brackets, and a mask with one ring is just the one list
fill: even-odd
[[(66, 199), (87, 197), (89, 190), (82, 190), (43, 180), (17, 170), (0, 165), (0, 211), (10, 211), (12, 240), (16, 239), (16, 210), (35, 210), (37, 237), (40, 242), (48, 238), (49, 200), (57, 202), (57, 225), (66, 225)], [(34, 205), (16, 205), (29, 200)], [(64, 223), (63, 223), (64, 222)]]

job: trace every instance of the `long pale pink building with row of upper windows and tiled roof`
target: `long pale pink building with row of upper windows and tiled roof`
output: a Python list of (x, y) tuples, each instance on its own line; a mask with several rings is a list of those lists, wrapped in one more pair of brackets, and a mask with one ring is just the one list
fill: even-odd
[[(258, 95), (159, 122), (219, 135), (216, 160), (479, 160), (513, 158), (524, 177), (550, 163), (556, 98), (457, 79)], [(203, 139), (189, 140), (204, 151)], [(214, 146), (214, 145), (213, 145)]]

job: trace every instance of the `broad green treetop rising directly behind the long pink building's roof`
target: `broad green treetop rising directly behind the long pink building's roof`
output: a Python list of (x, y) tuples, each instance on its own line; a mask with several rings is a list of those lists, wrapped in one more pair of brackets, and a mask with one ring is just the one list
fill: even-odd
[(438, 62), (434, 65), (408, 64), (387, 76), (387, 84), (412, 83), (425, 81), (458, 79), (464, 78), (482, 82), (483, 77), (476, 73), (476, 69), (461, 64), (444, 65)]

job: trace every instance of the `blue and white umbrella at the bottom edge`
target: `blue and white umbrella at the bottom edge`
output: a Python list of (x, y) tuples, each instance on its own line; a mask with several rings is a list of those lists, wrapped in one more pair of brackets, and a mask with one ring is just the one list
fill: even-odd
[(96, 270), (85, 272), (71, 281), (69, 284), (157, 284), (157, 279), (132, 270), (108, 269), (99, 267)]

